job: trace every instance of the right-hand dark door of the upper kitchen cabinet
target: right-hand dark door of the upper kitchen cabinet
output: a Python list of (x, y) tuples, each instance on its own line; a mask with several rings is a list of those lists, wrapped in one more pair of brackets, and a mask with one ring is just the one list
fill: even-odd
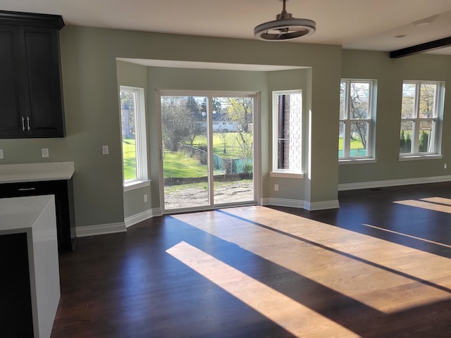
[(26, 60), (26, 91), (30, 96), (25, 127), (31, 137), (63, 137), (63, 105), (59, 69), (58, 30), (20, 27)]

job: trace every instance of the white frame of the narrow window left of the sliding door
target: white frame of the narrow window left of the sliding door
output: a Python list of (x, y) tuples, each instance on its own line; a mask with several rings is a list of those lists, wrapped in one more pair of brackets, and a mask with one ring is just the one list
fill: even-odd
[(135, 93), (135, 156), (136, 156), (136, 177), (125, 180), (124, 158), (123, 158), (123, 121), (122, 106), (119, 99), (121, 111), (121, 158), (122, 158), (122, 179), (124, 191), (137, 189), (149, 185), (149, 175), (147, 170), (147, 127), (144, 88), (123, 86), (119, 87), (119, 98), (121, 92), (128, 91)]

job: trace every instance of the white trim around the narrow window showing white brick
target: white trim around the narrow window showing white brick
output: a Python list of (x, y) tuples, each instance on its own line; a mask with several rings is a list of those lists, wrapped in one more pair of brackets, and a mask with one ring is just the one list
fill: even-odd
[[(289, 89), (289, 90), (276, 90), (273, 91), (273, 170), (270, 173), (271, 177), (287, 177), (287, 178), (303, 178), (304, 173), (302, 173), (302, 160), (299, 163), (299, 171), (289, 170), (289, 169), (279, 169), (277, 168), (278, 162), (278, 111), (277, 111), (277, 98), (279, 95), (283, 94), (300, 94), (301, 95), (301, 120), (299, 121), (299, 125), (301, 125), (301, 142), (303, 140), (303, 128), (302, 128), (302, 116), (303, 116), (303, 108), (304, 108), (304, 98), (302, 96), (302, 89)], [(302, 143), (301, 143), (301, 148)], [(302, 150), (303, 153), (303, 150)], [(299, 158), (303, 158), (303, 155), (299, 156)]]

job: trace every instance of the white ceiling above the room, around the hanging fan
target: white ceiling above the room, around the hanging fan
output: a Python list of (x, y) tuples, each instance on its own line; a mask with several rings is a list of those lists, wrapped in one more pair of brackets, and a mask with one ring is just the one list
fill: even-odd
[[(254, 39), (276, 19), (280, 0), (0, 0), (4, 11), (59, 14), (66, 25)], [(451, 0), (289, 0), (316, 32), (292, 43), (393, 51), (451, 36)], [(429, 25), (414, 22), (437, 15)], [(404, 36), (404, 37), (397, 37)], [(266, 42), (277, 43), (277, 42)], [(451, 55), (451, 47), (432, 51)]]

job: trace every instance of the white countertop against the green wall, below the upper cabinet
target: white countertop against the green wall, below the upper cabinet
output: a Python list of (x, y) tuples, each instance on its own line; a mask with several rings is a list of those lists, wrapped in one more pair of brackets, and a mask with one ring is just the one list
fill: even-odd
[(21, 163), (0, 165), (0, 183), (70, 180), (73, 162)]

